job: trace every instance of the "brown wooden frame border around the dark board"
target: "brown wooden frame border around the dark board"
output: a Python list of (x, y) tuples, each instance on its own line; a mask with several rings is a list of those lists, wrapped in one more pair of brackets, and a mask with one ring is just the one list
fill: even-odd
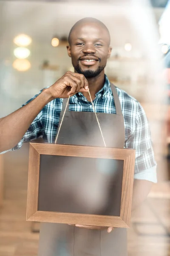
[[(40, 155), (59, 155), (124, 160), (120, 216), (47, 212), (37, 210)], [(134, 149), (30, 143), (26, 219), (28, 221), (95, 225), (103, 227), (130, 227), (134, 165)]]

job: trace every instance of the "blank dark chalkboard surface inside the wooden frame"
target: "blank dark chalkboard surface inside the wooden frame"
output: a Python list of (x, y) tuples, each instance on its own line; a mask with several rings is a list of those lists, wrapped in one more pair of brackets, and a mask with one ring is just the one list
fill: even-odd
[(38, 211), (120, 215), (124, 160), (40, 155)]

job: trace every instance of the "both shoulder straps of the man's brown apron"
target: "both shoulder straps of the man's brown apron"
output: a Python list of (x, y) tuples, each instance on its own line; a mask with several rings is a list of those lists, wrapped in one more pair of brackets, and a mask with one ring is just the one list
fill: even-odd
[[(120, 101), (119, 101), (119, 96), (118, 96), (117, 91), (116, 91), (116, 87), (112, 83), (110, 83), (110, 85), (111, 85), (111, 89), (112, 89), (112, 93), (113, 93), (114, 104), (115, 104), (115, 108), (116, 108), (116, 114), (121, 116), (122, 115), (122, 109), (121, 109), (121, 105), (120, 105)], [(65, 106), (67, 104), (67, 101), (68, 101), (68, 98), (63, 99), (62, 111), (65, 110)], [(67, 105), (66, 111), (69, 111), (69, 104)]]

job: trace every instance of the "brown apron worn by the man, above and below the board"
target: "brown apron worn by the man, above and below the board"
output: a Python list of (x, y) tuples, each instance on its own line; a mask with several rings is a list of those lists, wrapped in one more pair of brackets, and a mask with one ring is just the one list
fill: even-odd
[[(116, 114), (97, 113), (107, 147), (123, 148), (125, 126), (116, 88), (111, 84)], [(67, 99), (63, 100), (60, 121)], [(89, 103), (90, 105), (90, 103)], [(94, 100), (95, 105), (95, 100)], [(94, 112), (66, 110), (59, 144), (104, 146)], [(127, 232), (116, 228), (86, 230), (67, 224), (42, 223), (38, 256), (127, 256)]]

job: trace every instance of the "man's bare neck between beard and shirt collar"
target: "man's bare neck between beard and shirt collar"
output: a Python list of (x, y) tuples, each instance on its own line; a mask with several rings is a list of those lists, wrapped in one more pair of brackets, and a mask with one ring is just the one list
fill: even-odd
[[(87, 80), (88, 80), (88, 87), (89, 87), (89, 91), (91, 94), (91, 98), (92, 98), (92, 100), (94, 100), (96, 98), (95, 94), (99, 90), (101, 90), (105, 84), (104, 70), (98, 76), (96, 76), (94, 78), (89, 78)], [(82, 94), (88, 99), (88, 101), (91, 101), (88, 93), (82, 93)]]

